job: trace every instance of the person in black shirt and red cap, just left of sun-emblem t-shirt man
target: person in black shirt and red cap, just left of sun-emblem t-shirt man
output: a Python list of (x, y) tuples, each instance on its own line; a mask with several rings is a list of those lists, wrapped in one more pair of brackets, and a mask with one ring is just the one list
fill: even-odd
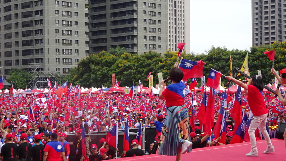
[(41, 142), (41, 135), (35, 135), (34, 137), (34, 144), (32, 146), (32, 154), (31, 158), (33, 161), (43, 161), (43, 155), (44, 155), (44, 145)]

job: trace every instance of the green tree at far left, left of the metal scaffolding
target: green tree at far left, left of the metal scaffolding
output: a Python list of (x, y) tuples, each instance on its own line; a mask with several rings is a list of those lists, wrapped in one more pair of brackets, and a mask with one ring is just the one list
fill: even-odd
[(25, 89), (28, 85), (28, 72), (26, 70), (12, 68), (8, 75), (10, 77), (7, 81), (13, 82), (14, 89)]

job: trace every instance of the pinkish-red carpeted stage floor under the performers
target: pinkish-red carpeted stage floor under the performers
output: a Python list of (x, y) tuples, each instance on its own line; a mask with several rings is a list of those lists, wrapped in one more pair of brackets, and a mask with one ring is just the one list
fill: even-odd
[[(231, 145), (222, 145), (222, 146), (213, 146), (213, 147), (206, 147), (206, 148), (198, 148), (194, 149), (190, 153), (186, 153), (182, 155), (182, 161), (202, 161), (202, 160), (211, 160), (211, 161), (222, 161), (222, 160), (239, 160), (239, 161), (255, 161), (255, 160), (286, 160), (286, 149), (285, 149), (285, 142), (281, 139), (271, 139), (272, 144), (275, 148), (275, 152), (269, 154), (263, 154), (263, 151), (266, 150), (266, 141), (259, 140), (257, 141), (257, 148), (258, 148), (258, 157), (246, 157), (245, 154), (248, 153), (251, 149), (250, 142), (246, 143), (237, 143)], [(175, 156), (163, 156), (158, 154), (152, 155), (144, 155), (138, 157), (128, 157), (128, 158), (119, 158), (118, 160), (125, 160), (125, 161), (169, 161), (175, 160)]]

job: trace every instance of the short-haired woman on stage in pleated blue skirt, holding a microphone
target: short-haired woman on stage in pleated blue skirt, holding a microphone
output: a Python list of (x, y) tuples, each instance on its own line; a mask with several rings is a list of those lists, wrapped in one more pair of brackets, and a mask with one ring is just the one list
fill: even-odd
[(176, 161), (181, 160), (181, 154), (188, 151), (192, 146), (189, 141), (189, 115), (185, 106), (184, 83), (181, 81), (184, 73), (177, 68), (178, 63), (170, 70), (170, 80), (172, 84), (163, 91), (165, 82), (160, 83), (159, 99), (166, 99), (166, 117), (162, 127), (160, 147), (158, 154), (177, 156)]

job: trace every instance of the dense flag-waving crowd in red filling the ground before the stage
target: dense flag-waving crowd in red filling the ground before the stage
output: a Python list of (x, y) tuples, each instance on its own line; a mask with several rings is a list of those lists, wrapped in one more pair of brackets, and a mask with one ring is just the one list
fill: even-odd
[[(227, 119), (232, 121), (226, 129), (226, 141), (219, 142), (221, 137), (203, 133), (198, 126), (189, 127), (190, 141), (192, 148), (216, 146), (229, 144), (234, 133), (234, 120), (231, 117), (230, 109), (233, 106), (234, 96), (230, 95), (228, 102)], [(243, 95), (243, 109), (249, 113), (247, 97)], [(268, 125), (276, 127), (278, 123), (285, 123), (284, 106), (275, 108), (279, 100), (273, 94), (264, 94), (268, 106)], [(218, 117), (222, 103), (222, 93), (215, 96), (216, 112), (215, 120)], [(192, 111), (194, 123), (199, 123), (196, 114), (203, 101), (203, 92), (191, 92), (185, 97), (185, 104), (189, 111)], [(195, 103), (194, 103), (195, 102)], [(3, 95), (1, 103), (1, 160), (108, 160), (116, 156), (131, 157), (147, 154), (157, 154), (161, 129), (163, 126), (166, 106), (164, 100), (154, 95), (134, 95), (132, 98), (124, 94), (97, 94), (77, 95), (76, 92), (68, 90), (62, 98), (57, 98), (54, 93), (49, 95)], [(280, 103), (281, 104), (281, 103)], [(124, 129), (126, 120), (128, 128), (156, 127), (156, 137), (150, 144), (150, 149), (144, 152), (139, 148), (138, 140), (131, 141), (131, 148), (119, 154), (119, 149), (109, 146), (102, 139), (98, 145), (90, 145), (90, 138), (87, 136), (86, 155), (82, 153), (82, 133), (88, 134), (93, 131), (109, 131), (118, 122), (118, 129)], [(191, 123), (191, 121), (190, 121)], [(85, 131), (82, 131), (84, 124)], [(67, 135), (73, 133), (77, 139), (67, 141)], [(258, 139), (258, 138), (257, 138)], [(70, 146), (73, 145), (73, 146)], [(74, 149), (71, 149), (73, 147)], [(122, 150), (122, 149), (121, 149)], [(75, 154), (71, 154), (74, 152)], [(70, 157), (75, 156), (75, 157)], [(56, 159), (55, 159), (56, 158)]]

